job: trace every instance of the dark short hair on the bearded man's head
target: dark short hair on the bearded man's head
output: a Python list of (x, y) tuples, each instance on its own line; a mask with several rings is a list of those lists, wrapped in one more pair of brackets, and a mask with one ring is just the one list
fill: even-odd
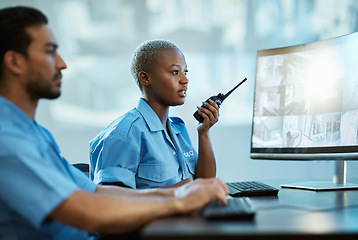
[(34, 8), (18, 6), (0, 9), (0, 79), (5, 53), (13, 50), (27, 57), (32, 39), (26, 28), (47, 23), (46, 16)]

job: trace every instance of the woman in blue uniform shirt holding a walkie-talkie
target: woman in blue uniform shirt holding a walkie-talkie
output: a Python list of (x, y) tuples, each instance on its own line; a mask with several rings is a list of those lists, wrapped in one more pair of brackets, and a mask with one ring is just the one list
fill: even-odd
[(199, 146), (194, 150), (184, 122), (168, 117), (185, 102), (189, 80), (183, 53), (171, 42), (151, 40), (134, 51), (131, 72), (142, 98), (90, 142), (92, 180), (131, 188), (179, 186), (216, 175), (209, 129), (218, 121), (215, 102), (198, 112)]

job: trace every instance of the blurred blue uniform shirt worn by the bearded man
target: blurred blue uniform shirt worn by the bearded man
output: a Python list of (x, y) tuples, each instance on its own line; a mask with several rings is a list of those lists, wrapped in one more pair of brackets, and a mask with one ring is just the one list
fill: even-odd
[(60, 155), (52, 135), (0, 96), (0, 239), (89, 239), (47, 219), (76, 190), (96, 190)]

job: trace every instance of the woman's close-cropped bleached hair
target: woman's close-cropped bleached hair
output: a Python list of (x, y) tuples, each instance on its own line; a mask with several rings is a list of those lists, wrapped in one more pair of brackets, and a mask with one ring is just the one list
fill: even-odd
[(164, 50), (178, 49), (173, 43), (167, 40), (150, 40), (139, 45), (133, 52), (130, 69), (134, 80), (136, 80), (139, 89), (143, 92), (143, 85), (138, 79), (141, 71), (150, 72), (153, 63)]

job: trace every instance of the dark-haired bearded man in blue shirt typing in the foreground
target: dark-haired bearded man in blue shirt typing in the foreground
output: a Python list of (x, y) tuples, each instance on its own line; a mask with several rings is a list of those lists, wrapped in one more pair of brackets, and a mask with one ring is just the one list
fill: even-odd
[(67, 67), (46, 17), (27, 7), (2, 9), (0, 36), (0, 239), (89, 239), (226, 202), (219, 179), (175, 189), (95, 185), (34, 120), (39, 99), (60, 96)]

